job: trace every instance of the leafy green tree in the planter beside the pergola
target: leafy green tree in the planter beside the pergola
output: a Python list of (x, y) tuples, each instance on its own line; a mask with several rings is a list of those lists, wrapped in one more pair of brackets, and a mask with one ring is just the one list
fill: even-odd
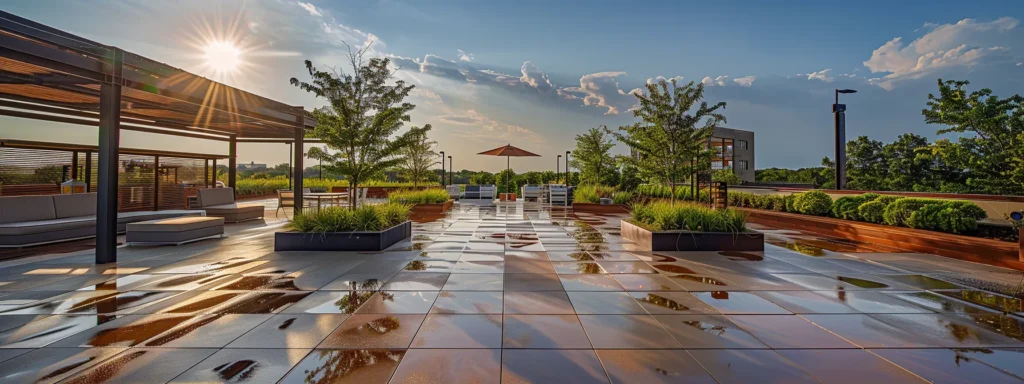
[[(312, 112), (316, 128), (310, 135), (332, 151), (314, 146), (306, 156), (322, 160), (328, 172), (344, 175), (352, 188), (401, 164), (402, 150), (425, 132), (413, 127), (398, 134), (416, 108), (402, 101), (414, 86), (393, 81), (388, 58), (364, 59), (368, 48), (349, 48), (351, 73), (319, 71), (306, 60), (311, 81), (291, 80), (292, 85), (328, 101), (327, 106)], [(350, 205), (355, 208), (355, 194), (351, 194)]]

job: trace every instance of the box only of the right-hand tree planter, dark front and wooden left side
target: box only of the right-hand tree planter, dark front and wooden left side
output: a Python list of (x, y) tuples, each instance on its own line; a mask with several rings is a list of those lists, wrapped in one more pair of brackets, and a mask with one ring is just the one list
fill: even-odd
[(765, 250), (765, 236), (761, 232), (693, 232), (689, 230), (664, 230), (652, 232), (622, 220), (623, 239), (650, 251), (744, 251)]

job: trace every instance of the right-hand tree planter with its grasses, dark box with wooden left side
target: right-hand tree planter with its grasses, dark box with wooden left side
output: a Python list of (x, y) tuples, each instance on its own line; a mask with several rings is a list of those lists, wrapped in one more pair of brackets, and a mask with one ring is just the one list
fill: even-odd
[(764, 251), (764, 234), (749, 230), (743, 213), (689, 203), (652, 202), (633, 207), (622, 236), (650, 251)]

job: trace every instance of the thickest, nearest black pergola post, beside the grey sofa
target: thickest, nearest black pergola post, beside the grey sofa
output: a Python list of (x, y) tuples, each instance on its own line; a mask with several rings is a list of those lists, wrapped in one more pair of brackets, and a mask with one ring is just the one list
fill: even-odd
[(124, 51), (114, 48), (111, 73), (99, 85), (99, 171), (96, 194), (96, 264), (118, 261), (118, 157)]

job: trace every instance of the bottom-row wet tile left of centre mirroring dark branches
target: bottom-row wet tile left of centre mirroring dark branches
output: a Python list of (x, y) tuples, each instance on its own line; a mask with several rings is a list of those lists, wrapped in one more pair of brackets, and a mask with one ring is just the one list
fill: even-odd
[(386, 383), (404, 354), (387, 349), (314, 349), (281, 383)]

